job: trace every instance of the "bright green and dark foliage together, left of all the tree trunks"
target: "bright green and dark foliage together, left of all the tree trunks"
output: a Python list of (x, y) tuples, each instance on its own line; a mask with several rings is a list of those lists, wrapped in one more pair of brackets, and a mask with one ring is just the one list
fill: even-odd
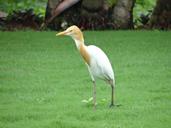
[(47, 0), (0, 0), (0, 11), (8, 13), (0, 19), (1, 30), (39, 29), (44, 19)]

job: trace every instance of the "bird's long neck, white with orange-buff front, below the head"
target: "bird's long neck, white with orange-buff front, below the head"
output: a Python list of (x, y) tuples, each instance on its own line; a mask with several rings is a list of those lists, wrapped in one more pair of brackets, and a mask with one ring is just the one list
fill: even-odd
[(82, 58), (88, 65), (90, 65), (90, 54), (88, 53), (87, 46), (84, 44), (84, 39), (82, 40), (74, 39), (74, 41)]

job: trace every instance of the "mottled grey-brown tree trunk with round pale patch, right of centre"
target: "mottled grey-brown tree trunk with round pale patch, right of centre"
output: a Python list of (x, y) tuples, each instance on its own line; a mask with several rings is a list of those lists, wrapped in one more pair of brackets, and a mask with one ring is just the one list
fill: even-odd
[(113, 10), (116, 29), (133, 28), (133, 7), (135, 0), (118, 0)]

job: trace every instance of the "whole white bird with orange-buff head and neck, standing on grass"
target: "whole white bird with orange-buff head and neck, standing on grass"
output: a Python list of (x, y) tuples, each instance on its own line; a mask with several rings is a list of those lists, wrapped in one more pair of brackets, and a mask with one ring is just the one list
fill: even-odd
[(98, 47), (94, 45), (86, 46), (84, 44), (84, 38), (81, 30), (73, 25), (67, 28), (65, 31), (57, 33), (56, 36), (67, 35), (70, 36), (76, 44), (78, 51), (83, 57), (90, 76), (93, 82), (93, 104), (94, 109), (96, 108), (96, 79), (102, 79), (107, 81), (112, 89), (111, 92), (111, 104), (110, 106), (114, 106), (114, 87), (115, 87), (115, 79), (114, 72), (111, 66), (111, 63), (107, 57), (107, 55)]

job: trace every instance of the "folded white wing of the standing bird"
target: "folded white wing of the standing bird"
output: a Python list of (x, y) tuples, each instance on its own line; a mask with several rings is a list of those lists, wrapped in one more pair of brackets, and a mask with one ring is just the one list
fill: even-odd
[[(88, 46), (87, 50), (91, 56), (90, 67), (95, 65), (96, 67), (94, 68), (98, 68), (98, 71), (100, 71), (99, 74), (103, 75), (105, 79), (114, 80), (113, 69), (107, 55), (100, 48), (94, 45)], [(96, 64), (91, 65), (91, 63)]]

